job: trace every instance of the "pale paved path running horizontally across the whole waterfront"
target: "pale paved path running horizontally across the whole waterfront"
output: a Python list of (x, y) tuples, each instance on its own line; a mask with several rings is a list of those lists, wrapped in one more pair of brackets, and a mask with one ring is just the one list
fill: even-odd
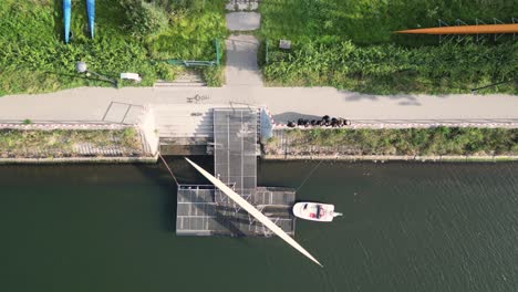
[[(188, 104), (196, 94), (199, 104), (267, 105), (277, 123), (301, 116), (344, 117), (369, 124), (436, 124), (437, 122), (518, 121), (516, 95), (365, 95), (332, 87), (191, 87), (153, 88), (83, 87), (51, 94), (0, 97), (0, 123), (40, 121), (101, 122), (113, 103), (131, 108), (146, 104)], [(128, 107), (126, 107), (128, 108)], [(130, 108), (130, 111), (132, 111)], [(117, 113), (124, 111), (117, 109)], [(127, 111), (127, 109), (126, 109)], [(138, 113), (138, 111), (135, 111)], [(127, 117), (126, 117), (127, 118)]]

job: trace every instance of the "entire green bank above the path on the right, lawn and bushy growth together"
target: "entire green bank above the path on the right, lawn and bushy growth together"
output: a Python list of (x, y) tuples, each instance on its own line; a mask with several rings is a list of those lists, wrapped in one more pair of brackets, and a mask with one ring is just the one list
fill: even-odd
[[(273, 85), (331, 85), (367, 93), (466, 93), (515, 79), (518, 43), (474, 38), (438, 44), (438, 36), (396, 30), (437, 27), (442, 19), (474, 23), (518, 14), (511, 0), (269, 0), (260, 34), (271, 42), (263, 75)], [(281, 51), (279, 39), (292, 41)], [(518, 93), (518, 81), (485, 93)]]

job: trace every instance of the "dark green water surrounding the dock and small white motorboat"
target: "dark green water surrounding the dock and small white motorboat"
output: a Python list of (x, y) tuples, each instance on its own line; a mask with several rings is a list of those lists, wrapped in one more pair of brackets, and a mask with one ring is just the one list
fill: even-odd
[(298, 198), (344, 217), (297, 239), (324, 269), (279, 239), (176, 237), (175, 196), (159, 166), (0, 166), (0, 291), (518, 291), (518, 164), (321, 164)]

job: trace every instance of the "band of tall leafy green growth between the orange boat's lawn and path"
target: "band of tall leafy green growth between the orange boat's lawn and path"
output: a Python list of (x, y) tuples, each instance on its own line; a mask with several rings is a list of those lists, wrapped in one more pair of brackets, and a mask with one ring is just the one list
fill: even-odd
[[(331, 85), (376, 94), (469, 93), (518, 75), (518, 43), (403, 48), (330, 39), (293, 52), (273, 51), (269, 59), (263, 75), (273, 85)], [(487, 92), (518, 94), (518, 80), (480, 91)]]

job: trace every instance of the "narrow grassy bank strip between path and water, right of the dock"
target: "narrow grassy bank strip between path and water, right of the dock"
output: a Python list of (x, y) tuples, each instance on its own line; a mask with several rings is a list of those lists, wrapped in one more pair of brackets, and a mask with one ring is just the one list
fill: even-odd
[[(518, 155), (518, 129), (408, 128), (286, 131), (289, 147), (341, 146), (353, 155)], [(267, 148), (278, 147), (270, 140)]]

